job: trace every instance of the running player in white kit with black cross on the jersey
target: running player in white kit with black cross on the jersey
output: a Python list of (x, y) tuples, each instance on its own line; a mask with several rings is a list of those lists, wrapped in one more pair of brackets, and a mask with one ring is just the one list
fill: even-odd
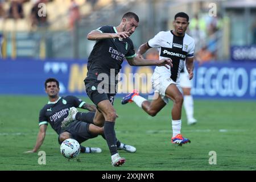
[(195, 50), (195, 41), (191, 36), (185, 33), (189, 24), (189, 16), (183, 12), (177, 13), (173, 22), (174, 30), (161, 31), (154, 38), (142, 44), (137, 52), (137, 56), (142, 58), (143, 54), (150, 48), (159, 49), (159, 59), (172, 59), (173, 67), (156, 67), (151, 81), (155, 90), (154, 100), (147, 101), (138, 92), (123, 98), (122, 104), (135, 102), (142, 107), (146, 113), (151, 116), (156, 115), (171, 99), (174, 101), (172, 107), (172, 138), (171, 142), (179, 144), (190, 142), (189, 139), (183, 138), (181, 135), (181, 108), (183, 104), (183, 95), (177, 78), (183, 69), (184, 61), (189, 73), (189, 80), (193, 78), (193, 56)]

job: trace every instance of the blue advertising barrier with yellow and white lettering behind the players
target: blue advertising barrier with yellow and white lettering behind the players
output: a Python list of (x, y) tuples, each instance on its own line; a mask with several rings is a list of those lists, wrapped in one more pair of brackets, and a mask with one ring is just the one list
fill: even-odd
[[(138, 89), (144, 96), (152, 95), (151, 75), (154, 67), (131, 67), (122, 64), (117, 96)], [(44, 95), (44, 81), (56, 77), (62, 95), (86, 96), (84, 78), (87, 60), (0, 60), (0, 94)], [(205, 63), (195, 65), (192, 94), (195, 98), (256, 100), (256, 63)]]

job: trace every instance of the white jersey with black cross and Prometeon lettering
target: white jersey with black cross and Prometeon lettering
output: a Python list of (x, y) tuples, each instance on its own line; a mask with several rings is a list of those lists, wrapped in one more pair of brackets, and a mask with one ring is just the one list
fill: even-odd
[(188, 34), (176, 36), (171, 31), (161, 31), (148, 40), (149, 47), (157, 47), (159, 50), (159, 59), (171, 58), (173, 67), (155, 67), (154, 72), (160, 75), (168, 75), (176, 81), (184, 67), (186, 57), (193, 57), (195, 51), (195, 40)]

